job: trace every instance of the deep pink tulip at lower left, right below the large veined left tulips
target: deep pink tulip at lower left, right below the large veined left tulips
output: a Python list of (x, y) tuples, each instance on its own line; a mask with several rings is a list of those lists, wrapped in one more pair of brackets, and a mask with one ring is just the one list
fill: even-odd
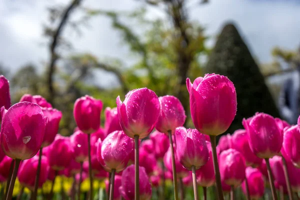
[(62, 170), (69, 166), (74, 158), (70, 138), (57, 134), (47, 152), (48, 162), (52, 169)]

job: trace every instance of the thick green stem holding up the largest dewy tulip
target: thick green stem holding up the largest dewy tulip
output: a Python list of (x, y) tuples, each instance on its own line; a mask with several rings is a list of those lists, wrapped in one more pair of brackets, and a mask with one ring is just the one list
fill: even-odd
[(216, 155), (215, 135), (209, 135), (209, 137), (210, 137), (210, 142), (211, 142), (212, 161), (213, 161), (213, 169), (214, 169), (214, 173), (215, 173), (216, 191), (218, 194), (218, 199), (224, 200), (222, 185), (221, 185), (220, 170), (218, 167), (217, 155)]

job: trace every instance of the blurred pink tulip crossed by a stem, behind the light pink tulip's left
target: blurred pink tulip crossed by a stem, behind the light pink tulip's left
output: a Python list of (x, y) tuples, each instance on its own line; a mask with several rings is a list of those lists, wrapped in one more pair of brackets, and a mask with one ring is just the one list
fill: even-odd
[[(175, 147), (174, 147), (175, 148)], [(179, 162), (176, 153), (174, 153), (175, 156), (175, 166), (176, 166), (176, 174), (178, 178), (183, 178), (188, 175), (189, 171), (182, 166), (182, 164)], [(171, 155), (171, 149), (170, 147), (166, 151), (163, 157), (163, 163), (167, 170), (172, 172), (172, 155)]]

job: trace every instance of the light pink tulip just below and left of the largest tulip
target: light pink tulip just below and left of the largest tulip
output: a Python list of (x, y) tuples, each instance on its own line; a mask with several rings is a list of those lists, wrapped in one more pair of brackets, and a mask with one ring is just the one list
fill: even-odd
[(191, 170), (200, 168), (208, 161), (205, 137), (196, 129), (177, 127), (175, 129), (176, 154), (180, 163)]

